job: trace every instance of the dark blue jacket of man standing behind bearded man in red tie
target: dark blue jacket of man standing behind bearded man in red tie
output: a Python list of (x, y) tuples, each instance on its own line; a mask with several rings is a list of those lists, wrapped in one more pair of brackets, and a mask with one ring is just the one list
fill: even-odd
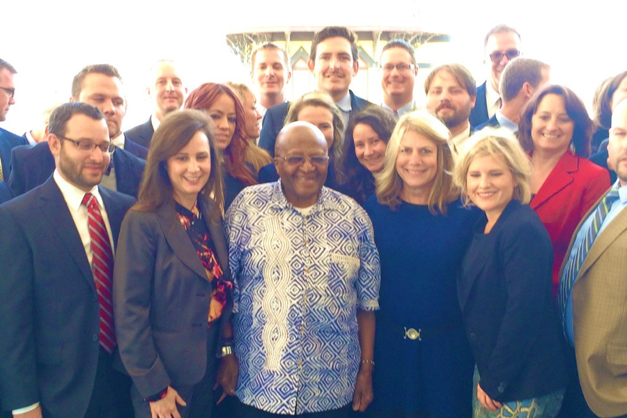
[[(115, 150), (113, 160), (118, 192), (137, 198), (146, 162), (121, 148)], [(47, 142), (14, 148), (12, 161), (15, 170), (11, 173), (8, 186), (14, 196), (20, 196), (44, 183), (55, 167)]]

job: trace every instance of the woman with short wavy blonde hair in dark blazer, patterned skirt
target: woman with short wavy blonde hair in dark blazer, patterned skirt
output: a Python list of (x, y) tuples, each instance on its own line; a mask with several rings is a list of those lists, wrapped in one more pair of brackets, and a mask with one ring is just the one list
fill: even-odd
[(552, 248), (527, 206), (532, 167), (513, 135), (484, 128), (466, 142), (455, 183), (481, 209), (458, 297), (476, 367), (475, 418), (552, 418), (566, 385), (564, 342), (551, 296)]

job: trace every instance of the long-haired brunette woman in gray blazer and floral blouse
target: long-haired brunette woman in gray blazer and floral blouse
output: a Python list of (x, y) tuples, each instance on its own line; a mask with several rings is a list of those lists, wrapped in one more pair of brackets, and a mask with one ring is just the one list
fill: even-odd
[(137, 418), (210, 416), (215, 354), (232, 305), (210, 125), (194, 110), (161, 123), (118, 239), (116, 338)]

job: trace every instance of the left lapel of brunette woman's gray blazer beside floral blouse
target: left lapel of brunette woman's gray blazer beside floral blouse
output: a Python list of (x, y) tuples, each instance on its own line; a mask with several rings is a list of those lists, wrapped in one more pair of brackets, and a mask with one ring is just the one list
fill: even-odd
[(161, 229), (174, 254), (202, 279), (208, 280), (207, 273), (198, 254), (196, 254), (192, 240), (189, 240), (187, 231), (180, 224), (173, 201), (165, 203), (157, 210), (157, 219), (159, 219)]

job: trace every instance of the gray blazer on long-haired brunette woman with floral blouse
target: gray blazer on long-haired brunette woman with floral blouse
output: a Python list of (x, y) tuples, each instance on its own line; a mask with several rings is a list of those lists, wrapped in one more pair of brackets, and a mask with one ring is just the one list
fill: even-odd
[[(224, 226), (209, 222), (211, 208), (212, 202), (199, 199), (217, 259), (231, 280)], [(174, 201), (156, 212), (127, 212), (116, 251), (114, 315), (120, 357), (141, 396), (203, 378), (217, 348), (217, 337), (208, 341), (216, 335), (207, 327), (210, 297), (210, 281)], [(221, 331), (232, 307), (229, 293), (213, 326)]]

